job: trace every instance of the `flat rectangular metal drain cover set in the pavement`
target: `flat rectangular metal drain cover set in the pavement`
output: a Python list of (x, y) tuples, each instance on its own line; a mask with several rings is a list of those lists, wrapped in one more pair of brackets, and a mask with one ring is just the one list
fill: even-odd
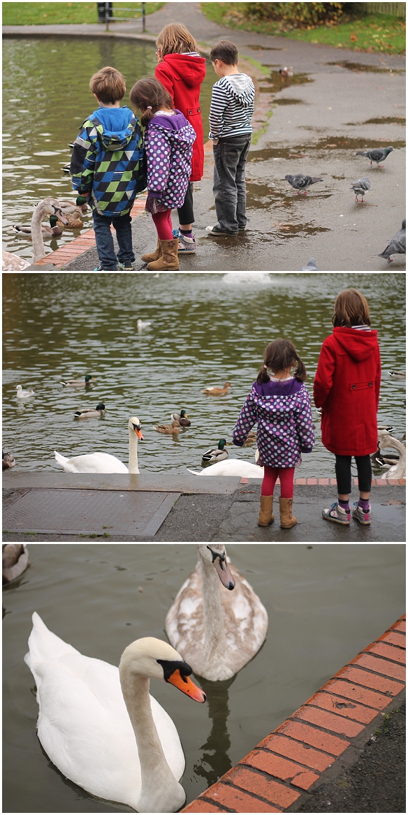
[(48, 490), (26, 492), (2, 513), (9, 531), (155, 535), (180, 492)]

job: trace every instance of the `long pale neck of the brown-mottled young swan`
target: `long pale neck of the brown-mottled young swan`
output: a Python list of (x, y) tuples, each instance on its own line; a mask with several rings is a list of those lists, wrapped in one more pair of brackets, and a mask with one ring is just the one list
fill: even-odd
[(205, 659), (224, 661), (227, 651), (224, 610), (220, 595), (220, 578), (212, 563), (200, 554), (202, 573), (202, 601), (204, 611), (204, 653)]

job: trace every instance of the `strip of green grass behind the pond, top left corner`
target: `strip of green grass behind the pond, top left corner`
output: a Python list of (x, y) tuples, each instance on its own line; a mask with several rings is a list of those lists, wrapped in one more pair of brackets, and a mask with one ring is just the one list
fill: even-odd
[[(129, 11), (120, 11), (121, 6), (135, 10), (140, 17), (141, 3), (113, 3), (113, 16), (130, 17)], [(153, 14), (164, 6), (164, 2), (147, 2), (146, 14)], [(97, 23), (98, 12), (95, 2), (3, 2), (3, 25), (52, 25), (60, 23)]]

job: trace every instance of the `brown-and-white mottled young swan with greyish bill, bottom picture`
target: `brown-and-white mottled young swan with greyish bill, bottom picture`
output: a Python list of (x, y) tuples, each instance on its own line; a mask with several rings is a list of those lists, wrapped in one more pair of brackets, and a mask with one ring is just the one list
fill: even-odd
[(166, 615), (167, 637), (197, 676), (224, 681), (259, 651), (268, 615), (224, 544), (198, 544), (197, 552), (197, 566)]

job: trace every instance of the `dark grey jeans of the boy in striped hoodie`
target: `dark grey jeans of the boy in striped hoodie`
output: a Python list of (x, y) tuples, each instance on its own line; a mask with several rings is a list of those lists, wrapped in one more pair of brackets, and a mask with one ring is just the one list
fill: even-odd
[(220, 139), (213, 145), (215, 212), (220, 227), (237, 232), (246, 227), (246, 156), (251, 135)]

